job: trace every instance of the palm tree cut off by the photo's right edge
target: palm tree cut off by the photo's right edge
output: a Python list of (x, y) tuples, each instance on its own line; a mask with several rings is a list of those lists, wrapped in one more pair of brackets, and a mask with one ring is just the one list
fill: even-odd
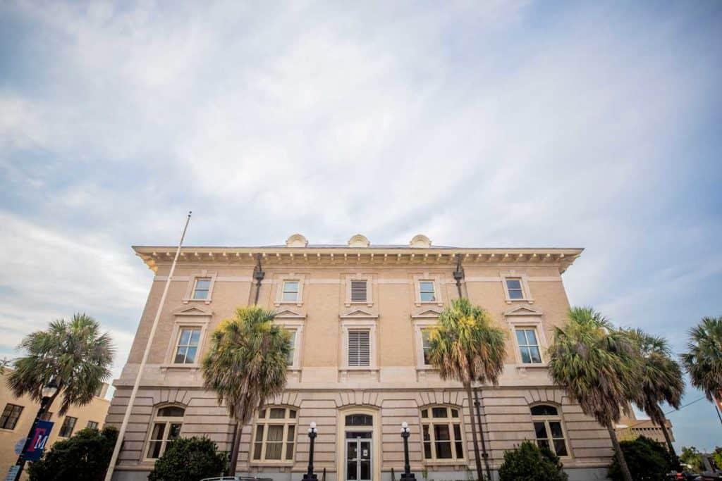
[(722, 401), (722, 317), (703, 317), (692, 327), (687, 350), (682, 363), (692, 386), (702, 389), (710, 402)]

